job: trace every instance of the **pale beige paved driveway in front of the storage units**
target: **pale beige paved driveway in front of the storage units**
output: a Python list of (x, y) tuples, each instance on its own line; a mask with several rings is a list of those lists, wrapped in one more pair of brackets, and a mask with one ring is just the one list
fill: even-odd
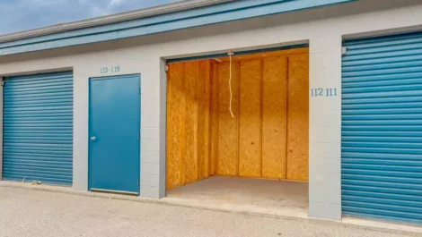
[(0, 187), (0, 236), (418, 236), (335, 222)]

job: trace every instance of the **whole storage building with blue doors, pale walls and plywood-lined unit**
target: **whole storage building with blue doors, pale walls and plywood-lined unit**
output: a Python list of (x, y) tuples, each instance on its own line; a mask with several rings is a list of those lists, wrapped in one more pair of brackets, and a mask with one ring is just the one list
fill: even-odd
[[(291, 177), (309, 182), (309, 216), (420, 224), (421, 12), (418, 0), (191, 0), (2, 36), (0, 177), (153, 199), (214, 169)], [(303, 51), (268, 57), (286, 50)], [(233, 72), (222, 66), (230, 63), (228, 52)], [(254, 54), (261, 58), (239, 58)], [(229, 74), (240, 119), (213, 131), (215, 118), (231, 115), (222, 109), (230, 94), (213, 100), (211, 78), (229, 93)], [(289, 84), (301, 78), (303, 84)], [(174, 87), (184, 96), (171, 94)], [(286, 90), (268, 92), (277, 87)], [(189, 107), (189, 93), (199, 106)], [(211, 96), (201, 100), (201, 94)], [(201, 105), (211, 108), (204, 116)], [(187, 114), (197, 115), (189, 120)], [(189, 124), (180, 121), (194, 124), (196, 133), (190, 137)], [(171, 135), (169, 123), (183, 129)], [(269, 123), (279, 130), (266, 130)], [(208, 162), (215, 152), (200, 142), (223, 146), (218, 157), (241, 153), (232, 154), (235, 165), (199, 166), (198, 159)], [(192, 144), (196, 165), (186, 169), (193, 163), (177, 159), (189, 157)], [(274, 168), (277, 159), (286, 166)], [(169, 174), (169, 164), (177, 174)]]

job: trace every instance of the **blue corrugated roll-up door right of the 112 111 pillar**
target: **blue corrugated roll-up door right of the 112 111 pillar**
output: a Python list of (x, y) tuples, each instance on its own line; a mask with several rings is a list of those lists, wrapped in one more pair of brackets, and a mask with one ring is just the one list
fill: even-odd
[(343, 214), (422, 223), (422, 34), (344, 47)]

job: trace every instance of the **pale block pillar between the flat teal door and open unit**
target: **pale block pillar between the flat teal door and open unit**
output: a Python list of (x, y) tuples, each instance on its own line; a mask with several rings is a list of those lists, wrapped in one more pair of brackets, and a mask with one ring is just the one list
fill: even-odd
[[(148, 63), (148, 62), (145, 62)], [(160, 58), (148, 63), (141, 74), (141, 197), (159, 199), (165, 195), (165, 84)], [(165, 72), (164, 72), (165, 75)], [(166, 80), (164, 78), (164, 80)], [(164, 111), (162, 111), (164, 110)], [(164, 131), (164, 132), (163, 132)], [(164, 137), (163, 137), (164, 135)], [(163, 147), (164, 145), (164, 147)], [(165, 177), (165, 176), (164, 176)]]

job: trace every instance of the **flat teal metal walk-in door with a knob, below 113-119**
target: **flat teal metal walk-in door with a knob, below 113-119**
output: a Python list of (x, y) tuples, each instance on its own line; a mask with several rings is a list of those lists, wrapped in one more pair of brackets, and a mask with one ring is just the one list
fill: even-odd
[(139, 75), (90, 80), (90, 190), (139, 193)]

